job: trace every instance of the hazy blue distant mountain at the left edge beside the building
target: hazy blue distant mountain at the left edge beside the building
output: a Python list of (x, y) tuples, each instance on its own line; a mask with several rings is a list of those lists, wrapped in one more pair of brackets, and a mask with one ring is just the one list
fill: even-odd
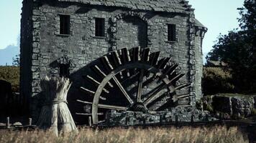
[(12, 58), (19, 54), (19, 46), (9, 45), (0, 49), (0, 66), (12, 65)]

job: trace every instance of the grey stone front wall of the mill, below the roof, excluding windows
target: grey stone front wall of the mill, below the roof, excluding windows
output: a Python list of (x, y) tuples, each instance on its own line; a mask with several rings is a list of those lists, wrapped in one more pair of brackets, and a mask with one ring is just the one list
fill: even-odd
[[(81, 74), (86, 74), (85, 66), (91, 61), (122, 46), (150, 47), (152, 51), (161, 51), (161, 56), (173, 56), (173, 61), (180, 65), (180, 72), (186, 74), (180, 82), (193, 82), (191, 88), (178, 91), (178, 94), (190, 92), (201, 96), (201, 46), (196, 46), (194, 16), (188, 14), (154, 13), (152, 11), (129, 11), (124, 8), (106, 6), (88, 6), (57, 1), (41, 1), (35, 3), (32, 11), (31, 29), (32, 49), (22, 52), (27, 59), (27, 84), (32, 83), (25, 92), (35, 101), (39, 100), (40, 78), (59, 75), (58, 60), (66, 57), (72, 61), (70, 78), (74, 87), (81, 82)], [(60, 34), (60, 14), (70, 15), (70, 34)], [(95, 36), (95, 18), (105, 19), (105, 36)], [(176, 41), (168, 41), (168, 24), (176, 25)], [(125, 27), (128, 27), (126, 29)], [(201, 41), (200, 41), (201, 43)], [(23, 46), (24, 47), (24, 46)], [(25, 54), (26, 53), (26, 54)], [(198, 59), (198, 61), (196, 61)], [(22, 64), (26, 62), (22, 61)], [(196, 64), (198, 67), (196, 67)], [(198, 69), (197, 69), (198, 68)], [(197, 74), (196, 74), (197, 72)], [(195, 81), (197, 81), (195, 83)], [(31, 92), (29, 92), (31, 90)], [(74, 94), (70, 92), (69, 94)], [(198, 99), (198, 98), (197, 98)], [(191, 102), (195, 97), (181, 101), (180, 104)], [(193, 103), (192, 103), (193, 102)], [(33, 103), (36, 110), (37, 103)], [(37, 112), (37, 111), (35, 111)], [(32, 113), (33, 114), (33, 113)]]

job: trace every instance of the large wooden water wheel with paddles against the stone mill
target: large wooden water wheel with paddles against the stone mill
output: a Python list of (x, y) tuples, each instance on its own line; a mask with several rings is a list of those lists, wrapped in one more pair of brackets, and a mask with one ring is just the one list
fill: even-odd
[(101, 57), (100, 64), (91, 66), (94, 75), (85, 75), (95, 91), (81, 87), (91, 101), (78, 99), (85, 104), (86, 113), (93, 124), (106, 118), (110, 109), (134, 112), (157, 112), (177, 106), (179, 99), (190, 94), (177, 95), (175, 91), (190, 86), (177, 84), (185, 74), (177, 70), (170, 57), (160, 59), (160, 51), (150, 53), (149, 48), (119, 49)]

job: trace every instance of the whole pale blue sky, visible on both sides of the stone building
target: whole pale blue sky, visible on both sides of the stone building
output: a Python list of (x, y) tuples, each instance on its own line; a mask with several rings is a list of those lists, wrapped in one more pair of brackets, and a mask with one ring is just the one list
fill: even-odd
[[(220, 33), (227, 34), (228, 31), (238, 27), (237, 7), (242, 6), (243, 0), (190, 0), (190, 4), (196, 9), (196, 19), (209, 29), (203, 44), (203, 52), (206, 56)], [(21, 9), (22, 0), (0, 1), (0, 49), (17, 45)]]

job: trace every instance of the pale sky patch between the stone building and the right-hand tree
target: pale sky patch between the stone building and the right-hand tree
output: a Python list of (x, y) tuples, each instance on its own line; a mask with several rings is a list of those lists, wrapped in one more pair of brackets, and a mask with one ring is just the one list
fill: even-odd
[(212, 49), (219, 34), (238, 28), (238, 7), (242, 7), (243, 0), (190, 0), (195, 10), (196, 19), (208, 28), (204, 38), (204, 56)]

